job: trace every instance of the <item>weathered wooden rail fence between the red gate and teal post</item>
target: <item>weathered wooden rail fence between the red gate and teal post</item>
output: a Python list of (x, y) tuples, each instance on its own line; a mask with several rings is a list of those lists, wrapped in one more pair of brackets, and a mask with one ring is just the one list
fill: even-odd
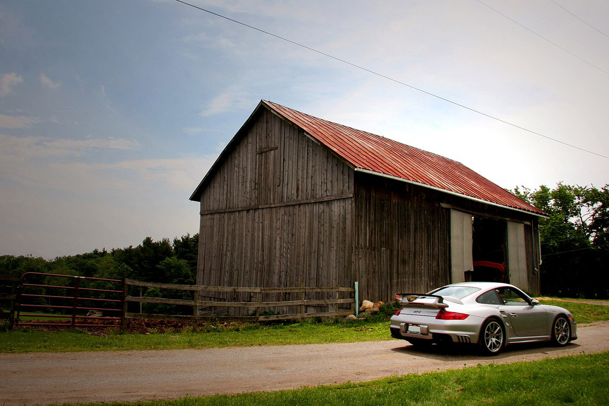
[[(194, 292), (194, 300), (185, 299), (168, 299), (168, 298), (152, 298), (146, 296), (129, 295), (129, 287), (146, 287), (157, 289), (171, 290), (188, 290)], [(164, 284), (158, 282), (142, 282), (133, 279), (125, 279), (124, 285), (124, 319), (123, 329), (127, 327), (127, 319), (156, 319), (156, 320), (186, 320), (196, 323), (204, 320), (241, 320), (241, 321), (269, 321), (269, 320), (295, 320), (305, 317), (335, 317), (346, 316), (357, 312), (357, 290), (356, 287), (225, 287), (225, 286), (202, 286), (202, 285), (177, 285)], [(254, 294), (256, 300), (248, 302), (235, 301), (209, 301), (200, 300), (203, 292), (219, 292), (219, 293), (250, 293)], [(330, 292), (334, 293), (333, 299), (306, 299), (308, 293), (313, 292)], [(340, 292), (353, 293), (349, 298), (339, 298)], [(300, 293), (300, 300), (290, 301), (263, 301), (266, 293)], [(128, 303), (156, 303), (156, 304), (174, 304), (181, 306), (191, 306), (192, 315), (165, 315), (152, 313), (130, 313), (128, 312)], [(339, 310), (340, 304), (349, 304), (348, 310)], [(294, 306), (298, 311), (290, 314), (281, 315), (261, 315), (261, 309), (270, 307)], [(307, 313), (308, 306), (324, 307), (328, 306), (326, 312)], [(202, 307), (240, 307), (244, 309), (253, 309), (254, 315), (248, 316), (218, 316), (218, 315), (200, 315), (199, 310)]]

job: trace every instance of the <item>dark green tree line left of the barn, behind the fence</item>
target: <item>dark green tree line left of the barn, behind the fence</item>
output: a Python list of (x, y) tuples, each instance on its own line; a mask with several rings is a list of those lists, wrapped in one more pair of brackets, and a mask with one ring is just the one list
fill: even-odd
[[(137, 279), (138, 281), (163, 282), (171, 284), (194, 285), (197, 277), (197, 247), (199, 234), (186, 234), (173, 241), (161, 239), (158, 241), (146, 237), (137, 247), (113, 248), (107, 250), (93, 250), (85, 254), (55, 257), (50, 261), (41, 257), (26, 256), (0, 256), (0, 274), (21, 276), (26, 272), (50, 273), (54, 275), (85, 276), (102, 279)], [(27, 283), (68, 286), (70, 281), (65, 278), (53, 276), (31, 275)], [(94, 289), (117, 289), (117, 284), (105, 281), (83, 281), (86, 287)], [(84, 286), (81, 284), (81, 286)], [(122, 290), (122, 287), (119, 289)], [(27, 293), (46, 296), (64, 296), (65, 289), (54, 287), (28, 287)], [(172, 299), (192, 300), (192, 294), (183, 290), (163, 290), (148, 288), (144, 292), (130, 292), (133, 296), (165, 297)], [(97, 293), (92, 296), (106, 299), (118, 299), (116, 293)], [(23, 303), (38, 305), (61, 305), (65, 299), (55, 298), (25, 298)], [(108, 303), (85, 303), (86, 306), (110, 308)], [(165, 304), (138, 304), (131, 303), (130, 311), (142, 310), (144, 313), (180, 314), (192, 312), (192, 307), (169, 306)], [(58, 312), (57, 309), (44, 309), (43, 312)]]

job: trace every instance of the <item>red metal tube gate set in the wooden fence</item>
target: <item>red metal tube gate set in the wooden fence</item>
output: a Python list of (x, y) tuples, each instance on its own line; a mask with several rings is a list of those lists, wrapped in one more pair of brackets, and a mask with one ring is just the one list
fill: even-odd
[[(35, 280), (28, 283), (26, 279)], [(51, 284), (51, 282), (55, 284)], [(15, 325), (117, 326), (115, 321), (122, 319), (123, 286), (124, 282), (119, 279), (26, 272), (21, 276)], [(62, 294), (62, 292), (65, 293)], [(35, 309), (43, 309), (44, 312), (32, 313)], [(24, 312), (24, 310), (29, 310), (29, 312)], [(23, 317), (33, 319), (22, 321)], [(37, 320), (39, 318), (69, 319), (71, 323), (52, 323), (54, 320), (46, 322)], [(90, 320), (106, 320), (107, 322), (91, 324)]]

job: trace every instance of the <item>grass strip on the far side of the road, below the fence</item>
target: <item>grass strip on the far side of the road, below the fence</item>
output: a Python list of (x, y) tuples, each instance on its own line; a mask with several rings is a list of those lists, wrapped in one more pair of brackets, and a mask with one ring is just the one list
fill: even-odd
[[(569, 309), (578, 323), (609, 320), (609, 306), (543, 301)], [(0, 332), (0, 352), (118, 351), (227, 346), (294, 345), (390, 340), (389, 322), (382, 317), (351, 323), (231, 324), (208, 326), (203, 332), (91, 335), (82, 331), (43, 332), (33, 329)]]

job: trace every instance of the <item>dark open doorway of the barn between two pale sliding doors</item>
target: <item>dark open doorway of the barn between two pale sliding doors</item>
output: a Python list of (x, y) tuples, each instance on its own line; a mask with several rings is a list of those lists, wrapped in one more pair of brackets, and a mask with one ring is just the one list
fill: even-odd
[(507, 222), (474, 216), (473, 271), (468, 280), (509, 282), (507, 275)]

